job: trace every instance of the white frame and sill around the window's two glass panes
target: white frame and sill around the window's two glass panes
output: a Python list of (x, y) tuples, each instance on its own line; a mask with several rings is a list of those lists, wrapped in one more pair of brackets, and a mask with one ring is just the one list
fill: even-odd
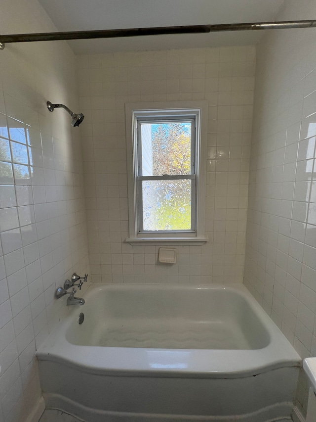
[[(206, 184), (206, 145), (207, 145), (207, 101), (176, 101), (176, 102), (150, 102), (126, 103), (126, 153), (127, 153), (127, 188), (128, 188), (128, 218), (129, 237), (126, 242), (132, 245), (151, 244), (186, 244), (201, 245), (208, 239), (205, 237), (205, 184)], [(147, 119), (167, 118), (194, 118), (195, 128), (195, 178), (196, 204), (192, 206), (194, 213), (194, 231), (170, 232), (139, 232), (138, 215), (138, 169), (140, 153), (137, 140), (137, 126), (139, 121)], [(174, 177), (165, 176), (170, 180)]]

